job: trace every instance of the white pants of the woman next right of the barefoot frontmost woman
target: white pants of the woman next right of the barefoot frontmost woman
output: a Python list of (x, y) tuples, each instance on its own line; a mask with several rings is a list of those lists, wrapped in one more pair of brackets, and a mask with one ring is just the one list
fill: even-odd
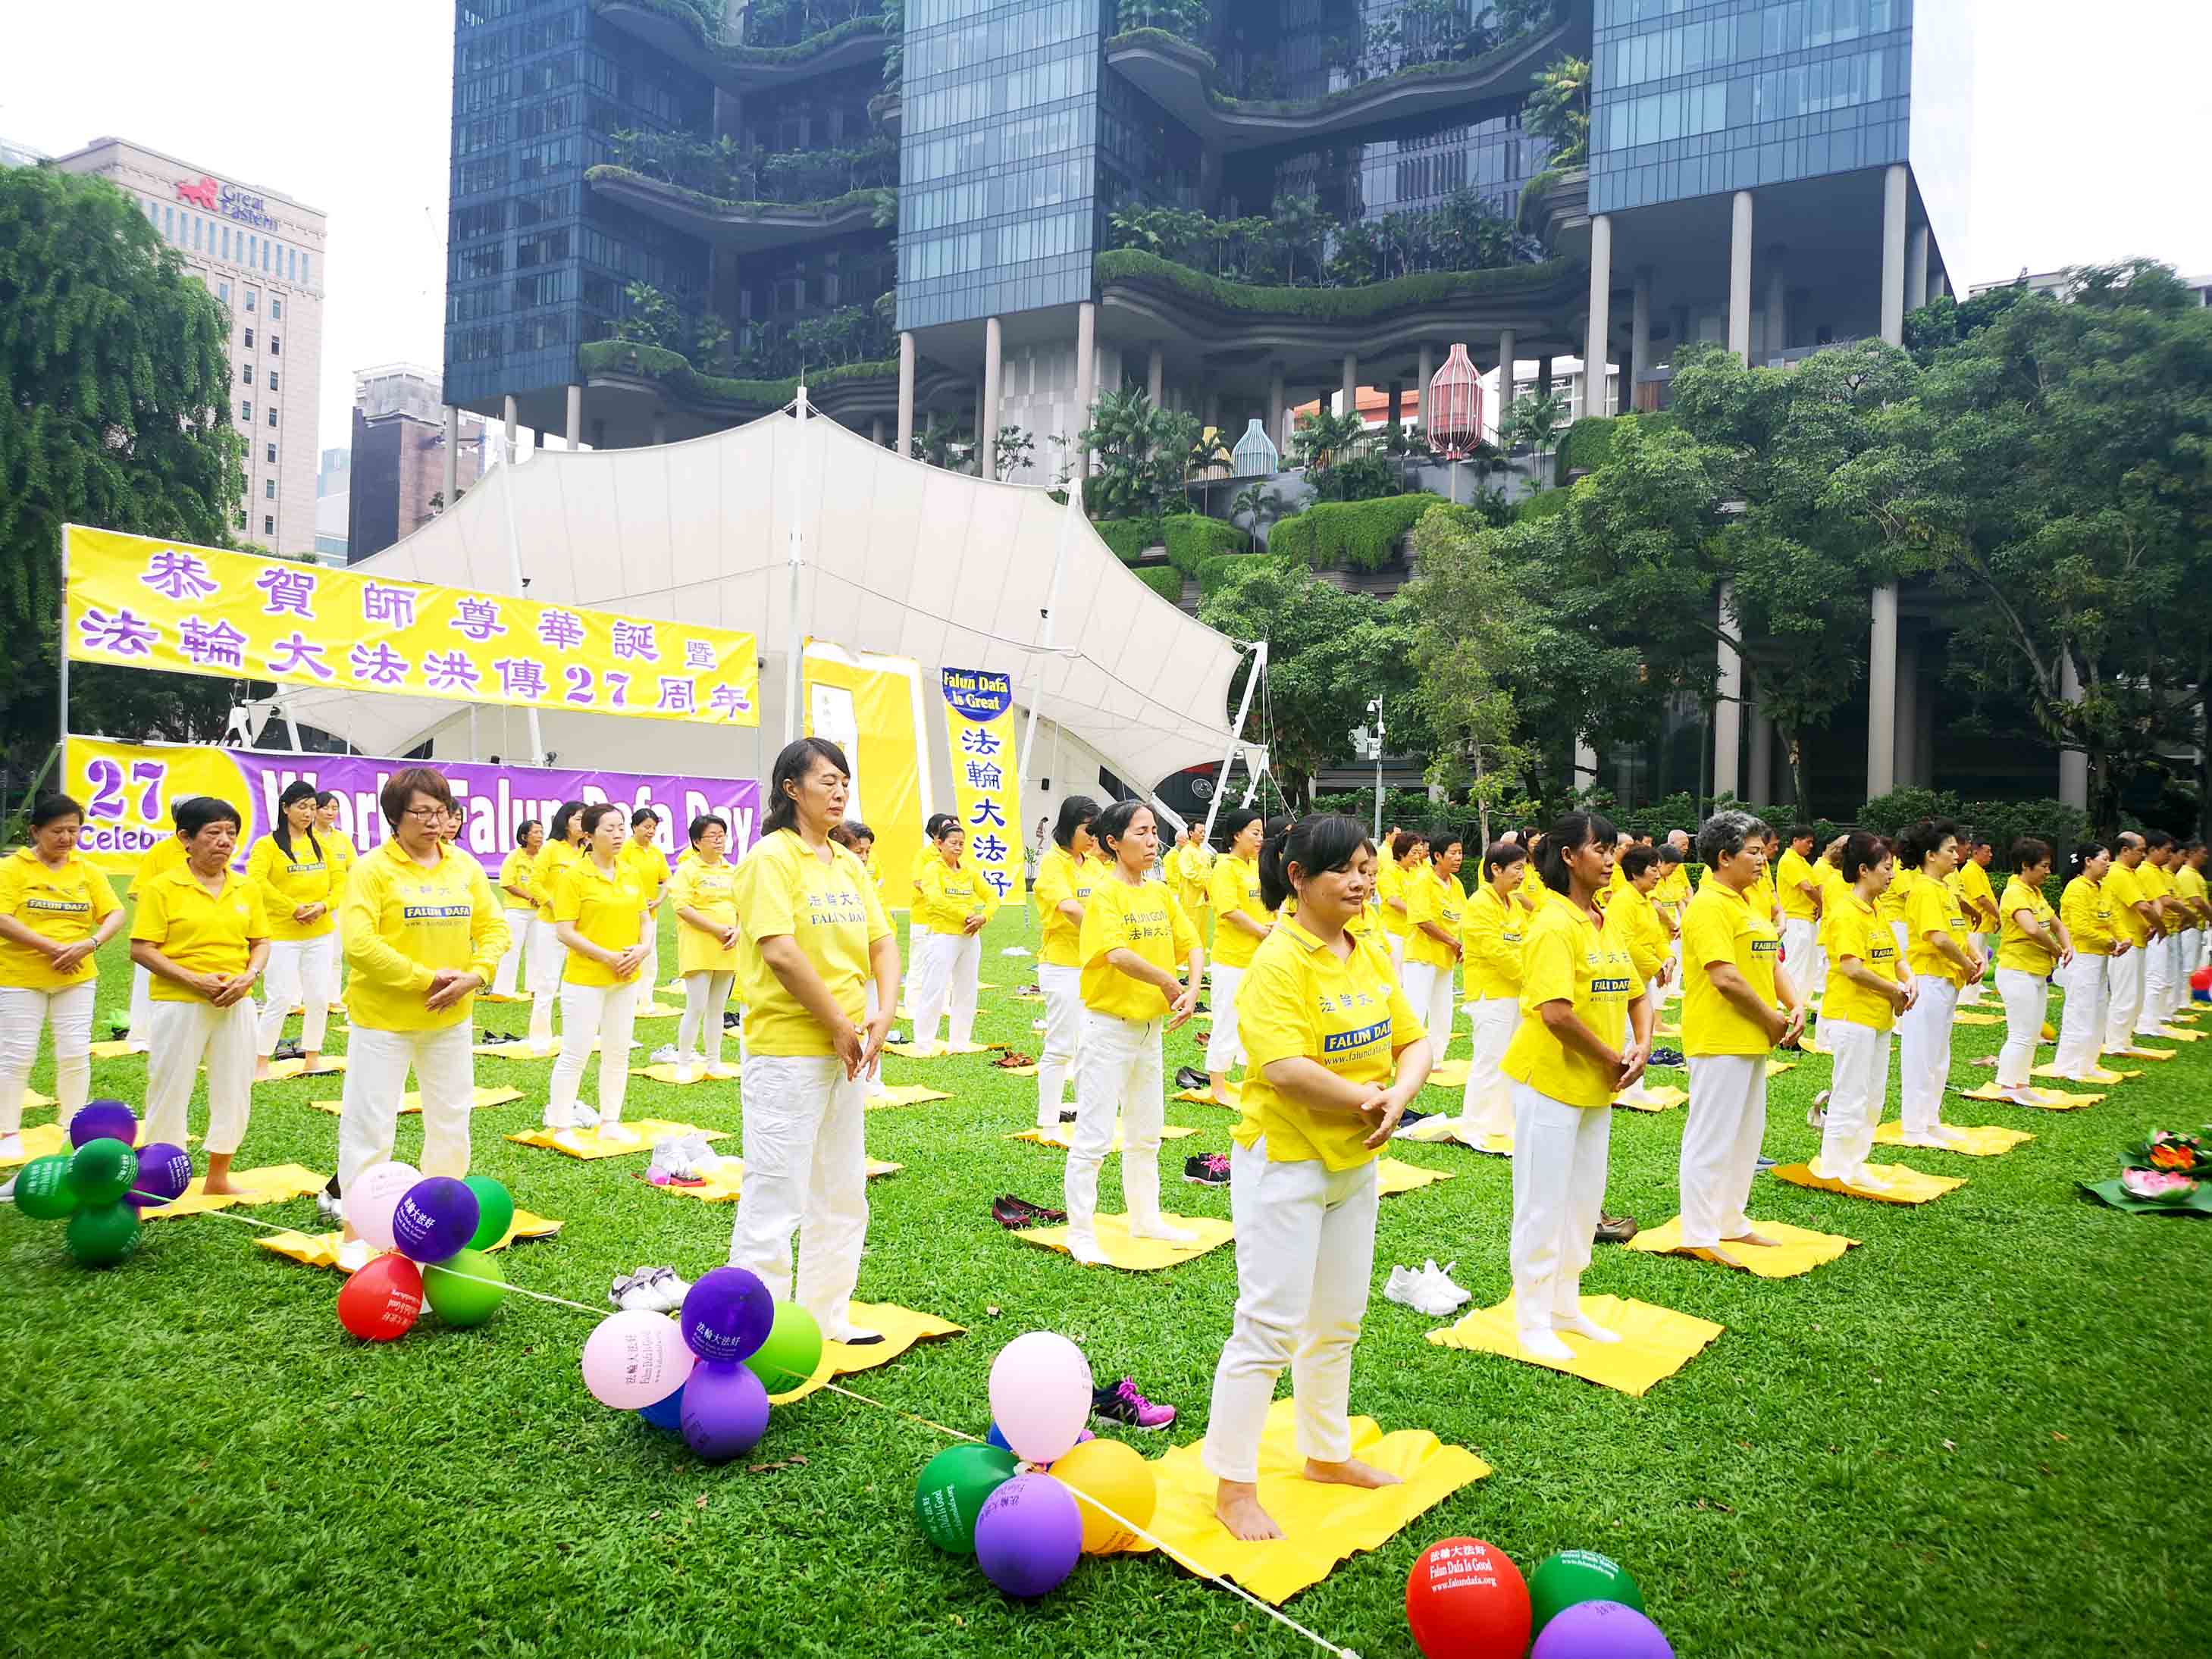
[(1513, 1298), (1524, 1332), (1548, 1332), (1557, 1314), (1582, 1312), (1606, 1201), (1613, 1113), (1568, 1106), (1513, 1084)]

